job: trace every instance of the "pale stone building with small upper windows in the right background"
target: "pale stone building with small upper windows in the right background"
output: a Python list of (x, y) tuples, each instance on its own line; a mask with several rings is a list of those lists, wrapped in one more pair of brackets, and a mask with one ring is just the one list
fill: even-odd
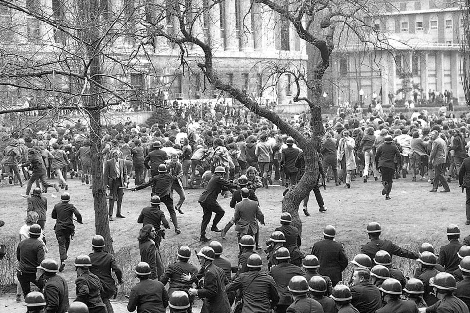
[(463, 101), (459, 46), (463, 20), (458, 2), (392, 0), (384, 4), (370, 21), (383, 33), (381, 47), (349, 38), (335, 50), (334, 84), (327, 88), (333, 103), (362, 98), (367, 104), (373, 95), (382, 95), (388, 103), (390, 93), (395, 99), (409, 99), (414, 91), (396, 94), (406, 75), (423, 89), (423, 99), (430, 90), (451, 90), (454, 98)]

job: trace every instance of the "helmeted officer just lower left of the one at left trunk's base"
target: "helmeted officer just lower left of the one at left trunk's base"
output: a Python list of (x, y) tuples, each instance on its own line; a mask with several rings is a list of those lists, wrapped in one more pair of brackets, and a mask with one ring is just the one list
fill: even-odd
[(74, 301), (80, 301), (87, 305), (90, 313), (107, 313), (106, 305), (101, 299), (101, 290), (103, 286), (95, 274), (90, 272), (92, 262), (90, 257), (81, 254), (75, 258), (75, 270), (77, 279), (75, 280), (76, 298)]

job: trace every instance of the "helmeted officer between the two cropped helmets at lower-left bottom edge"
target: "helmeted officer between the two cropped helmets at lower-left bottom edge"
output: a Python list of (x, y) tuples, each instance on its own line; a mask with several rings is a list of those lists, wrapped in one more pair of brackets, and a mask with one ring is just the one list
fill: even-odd
[(69, 287), (64, 278), (57, 275), (58, 265), (52, 259), (44, 259), (37, 267), (37, 277), (44, 279), (46, 308), (44, 313), (65, 313), (69, 307)]

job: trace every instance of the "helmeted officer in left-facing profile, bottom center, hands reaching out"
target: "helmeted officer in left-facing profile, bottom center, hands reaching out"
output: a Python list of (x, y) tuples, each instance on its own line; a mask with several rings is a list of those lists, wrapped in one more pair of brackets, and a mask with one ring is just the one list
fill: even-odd
[[(229, 280), (225, 276), (224, 270), (213, 264), (213, 261), (215, 260), (214, 250), (211, 247), (205, 246), (201, 248), (197, 255), (199, 256), (201, 268), (204, 269), (204, 285), (198, 289), (189, 288), (189, 295), (198, 296), (199, 298), (204, 299), (201, 312), (231, 312), (229, 299), (225, 292), (225, 286), (229, 283)], [(187, 281), (198, 281), (195, 276), (183, 276)]]

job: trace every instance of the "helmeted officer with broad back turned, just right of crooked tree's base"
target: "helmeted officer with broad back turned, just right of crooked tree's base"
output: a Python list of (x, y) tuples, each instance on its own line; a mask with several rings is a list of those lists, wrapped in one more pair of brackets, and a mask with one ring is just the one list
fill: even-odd
[(320, 275), (328, 276), (331, 279), (333, 287), (341, 281), (342, 272), (348, 266), (348, 256), (344, 251), (344, 246), (334, 241), (336, 229), (331, 226), (323, 228), (323, 240), (313, 244), (312, 254), (318, 258)]

